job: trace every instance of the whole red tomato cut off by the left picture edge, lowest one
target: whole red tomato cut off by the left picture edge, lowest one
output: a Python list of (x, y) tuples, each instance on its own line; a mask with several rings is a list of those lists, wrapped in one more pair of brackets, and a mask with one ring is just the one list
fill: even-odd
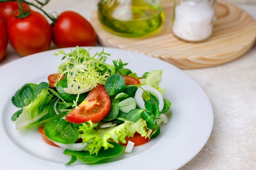
[(4, 22), (0, 19), (0, 60), (4, 57), (8, 44), (7, 30)]

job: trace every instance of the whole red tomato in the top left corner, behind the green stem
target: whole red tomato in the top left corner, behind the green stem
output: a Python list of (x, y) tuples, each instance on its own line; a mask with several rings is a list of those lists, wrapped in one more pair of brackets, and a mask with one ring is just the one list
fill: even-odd
[[(21, 2), (22, 9), (30, 9), (29, 5)], [(0, 18), (7, 24), (8, 19), (13, 15), (13, 12), (19, 9), (18, 2), (1, 2), (0, 3)]]

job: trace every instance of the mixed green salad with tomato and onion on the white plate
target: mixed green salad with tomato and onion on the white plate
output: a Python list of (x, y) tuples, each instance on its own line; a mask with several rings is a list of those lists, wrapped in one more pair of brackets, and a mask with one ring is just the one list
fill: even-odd
[(132, 152), (160, 134), (171, 102), (159, 87), (162, 70), (139, 77), (121, 59), (107, 64), (104, 49), (91, 55), (76, 46), (48, 82), (24, 84), (11, 102), (19, 108), (11, 119), (16, 130), (38, 128), (48, 144), (64, 148), (67, 164), (77, 159), (100, 163)]

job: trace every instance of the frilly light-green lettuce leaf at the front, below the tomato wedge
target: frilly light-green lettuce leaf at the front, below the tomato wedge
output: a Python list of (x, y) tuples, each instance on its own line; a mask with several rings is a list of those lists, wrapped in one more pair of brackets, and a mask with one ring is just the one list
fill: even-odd
[(147, 128), (146, 121), (139, 119), (137, 122), (124, 121), (119, 126), (110, 128), (100, 128), (98, 124), (93, 124), (91, 121), (79, 126), (79, 135), (83, 139), (83, 143), (87, 142), (85, 151), (89, 151), (90, 155), (98, 154), (101, 147), (105, 150), (114, 146), (108, 141), (112, 139), (116, 143), (121, 141), (126, 143), (125, 137), (133, 137), (135, 132), (141, 134), (142, 137), (149, 137), (152, 130)]

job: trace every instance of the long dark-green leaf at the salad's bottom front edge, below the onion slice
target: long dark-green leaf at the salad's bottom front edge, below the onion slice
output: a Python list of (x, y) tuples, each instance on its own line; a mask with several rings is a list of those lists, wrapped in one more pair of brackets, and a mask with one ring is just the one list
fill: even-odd
[(71, 163), (74, 163), (76, 159), (79, 159), (80, 161), (88, 164), (97, 163), (99, 161), (102, 161), (104, 159), (109, 159), (112, 157), (116, 157), (120, 155), (122, 152), (124, 152), (124, 147), (120, 144), (117, 144), (115, 142), (109, 142), (114, 146), (114, 148), (108, 148), (104, 149), (103, 147), (99, 150), (98, 154), (90, 155), (89, 151), (72, 151), (72, 150), (64, 150), (65, 155), (71, 155), (71, 160), (67, 163), (70, 165)]

